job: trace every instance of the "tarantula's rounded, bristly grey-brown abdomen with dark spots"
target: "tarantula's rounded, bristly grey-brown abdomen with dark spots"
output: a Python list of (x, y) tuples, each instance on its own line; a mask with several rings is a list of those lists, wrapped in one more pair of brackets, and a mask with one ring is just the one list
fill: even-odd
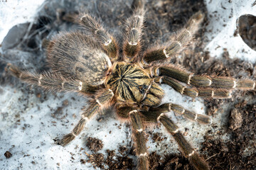
[(97, 42), (79, 32), (53, 39), (48, 46), (48, 62), (63, 77), (89, 85), (102, 84), (112, 65)]

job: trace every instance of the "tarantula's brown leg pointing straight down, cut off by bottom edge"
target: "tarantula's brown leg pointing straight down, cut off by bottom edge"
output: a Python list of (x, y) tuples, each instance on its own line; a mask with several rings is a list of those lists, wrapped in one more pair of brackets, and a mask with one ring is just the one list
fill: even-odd
[(138, 157), (138, 169), (149, 169), (148, 152), (146, 149), (146, 137), (144, 134), (144, 128), (142, 120), (137, 110), (129, 112), (129, 118), (132, 121), (132, 134), (136, 148), (136, 155)]

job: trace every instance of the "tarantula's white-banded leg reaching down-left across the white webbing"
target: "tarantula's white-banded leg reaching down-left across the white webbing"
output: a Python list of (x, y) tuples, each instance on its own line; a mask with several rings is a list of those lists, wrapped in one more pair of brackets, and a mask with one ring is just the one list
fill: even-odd
[(76, 136), (82, 132), (83, 128), (85, 127), (85, 123), (90, 120), (93, 115), (95, 115), (100, 108), (104, 108), (107, 103), (110, 103), (112, 97), (114, 96), (112, 90), (105, 89), (102, 91), (99, 96), (96, 98), (96, 101), (90, 103), (90, 106), (86, 108), (81, 115), (81, 119), (79, 120), (78, 124), (75, 125), (72, 132), (68, 135), (65, 135), (62, 140), (60, 140), (59, 144), (62, 146), (68, 145), (72, 140), (75, 139)]

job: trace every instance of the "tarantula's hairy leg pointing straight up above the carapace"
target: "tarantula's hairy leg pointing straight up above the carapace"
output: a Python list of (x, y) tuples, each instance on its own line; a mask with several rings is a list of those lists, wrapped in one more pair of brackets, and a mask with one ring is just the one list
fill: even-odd
[(126, 39), (124, 40), (124, 60), (134, 62), (141, 48), (142, 26), (144, 21), (144, 10), (137, 9), (127, 19)]

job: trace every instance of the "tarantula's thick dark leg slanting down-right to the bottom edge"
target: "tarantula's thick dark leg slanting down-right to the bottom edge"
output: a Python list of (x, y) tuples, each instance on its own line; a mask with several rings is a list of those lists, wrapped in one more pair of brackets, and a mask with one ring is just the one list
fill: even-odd
[(193, 147), (191, 147), (185, 137), (183, 137), (181, 131), (178, 130), (178, 126), (175, 125), (173, 121), (171, 121), (166, 115), (164, 115), (164, 113), (161, 113), (157, 120), (159, 120), (164, 125), (166, 130), (171, 133), (171, 135), (178, 143), (178, 147), (181, 149), (182, 154), (184, 155), (184, 157), (188, 158), (189, 162), (193, 164), (195, 169), (209, 169), (206, 161), (203, 158), (199, 157), (199, 154), (193, 149)]

